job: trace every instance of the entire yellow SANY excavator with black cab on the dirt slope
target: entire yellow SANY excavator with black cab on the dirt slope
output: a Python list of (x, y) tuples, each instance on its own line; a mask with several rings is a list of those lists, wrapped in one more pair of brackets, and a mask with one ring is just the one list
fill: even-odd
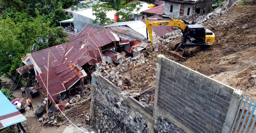
[[(158, 21), (149, 21), (149, 19), (157, 19)], [(152, 26), (174, 26), (181, 30), (181, 43), (174, 44), (171, 48), (175, 51), (183, 49), (183, 56), (193, 56), (199, 51), (199, 47), (203, 45), (213, 45), (215, 35), (209, 29), (203, 28), (202, 25), (186, 25), (184, 21), (179, 19), (164, 18), (146, 18), (146, 32), (151, 43), (153, 44)]]

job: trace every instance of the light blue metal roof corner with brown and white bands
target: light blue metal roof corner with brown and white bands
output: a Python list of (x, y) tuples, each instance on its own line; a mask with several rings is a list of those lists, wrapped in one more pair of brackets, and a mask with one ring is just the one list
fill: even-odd
[(27, 120), (0, 90), (0, 129)]

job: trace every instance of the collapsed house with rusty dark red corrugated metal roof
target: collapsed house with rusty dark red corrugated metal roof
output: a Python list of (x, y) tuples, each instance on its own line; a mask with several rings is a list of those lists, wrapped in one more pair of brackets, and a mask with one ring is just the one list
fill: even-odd
[(35, 78), (47, 93), (48, 70), (49, 99), (56, 101), (61, 92), (72, 88), (82, 77), (90, 77), (93, 66), (102, 63), (102, 54), (115, 48), (119, 41), (116, 33), (86, 26), (70, 42), (27, 54), (22, 59), (26, 65), (17, 71), (24, 74), (34, 69)]

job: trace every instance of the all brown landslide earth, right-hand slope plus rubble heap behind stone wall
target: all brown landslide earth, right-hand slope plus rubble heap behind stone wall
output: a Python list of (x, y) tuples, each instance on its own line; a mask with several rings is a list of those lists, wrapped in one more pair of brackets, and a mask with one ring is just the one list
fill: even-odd
[[(97, 71), (123, 91), (140, 92), (155, 84), (156, 56), (163, 54), (234, 88), (243, 79), (244, 93), (256, 97), (256, 2), (248, 1), (250, 5), (241, 5), (241, 2), (238, 0), (225, 11), (213, 12), (210, 17), (208, 14), (201, 18), (207, 22), (199, 24), (215, 33), (214, 46), (200, 51), (185, 62), (172, 57), (167, 52), (168, 46), (163, 46), (161, 52), (147, 48), (149, 55), (144, 53), (140, 58), (128, 58), (118, 66), (103, 64)], [(168, 42), (177, 41), (172, 34)], [(149, 94), (154, 95), (154, 91)]]

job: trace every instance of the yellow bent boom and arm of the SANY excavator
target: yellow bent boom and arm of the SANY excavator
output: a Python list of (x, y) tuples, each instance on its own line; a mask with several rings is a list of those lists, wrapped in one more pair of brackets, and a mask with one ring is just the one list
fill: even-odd
[[(153, 34), (152, 34), (152, 26), (176, 26), (181, 29), (182, 33), (186, 28), (186, 24), (179, 19), (163, 19), (163, 18), (150, 18), (150, 19), (157, 19), (161, 21), (149, 21), (149, 18), (146, 18), (146, 30), (150, 37), (150, 42), (153, 44)], [(148, 39), (148, 36), (147, 36)]]

